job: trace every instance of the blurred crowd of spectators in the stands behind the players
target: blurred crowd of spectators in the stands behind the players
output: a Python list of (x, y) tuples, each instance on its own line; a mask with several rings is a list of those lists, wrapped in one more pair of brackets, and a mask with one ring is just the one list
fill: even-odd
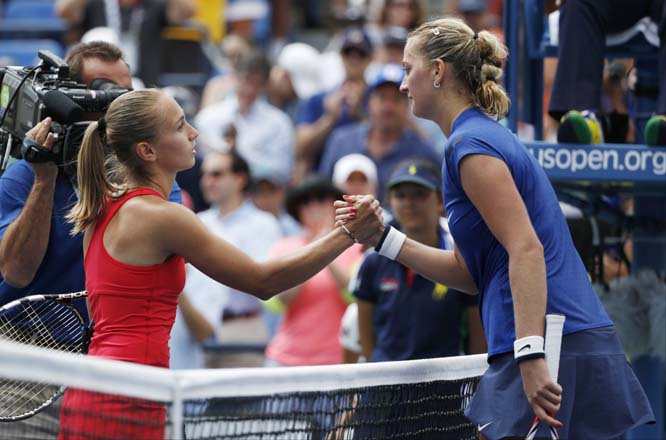
[[(68, 25), (66, 44), (105, 40), (118, 46), (134, 88), (161, 87), (181, 105), (199, 132), (196, 165), (177, 177), (182, 201), (257, 260), (303, 246), (332, 228), (327, 206), (340, 191), (375, 194), (390, 211), (386, 191), (401, 164), (439, 168), (444, 135), (414, 117), (399, 90), (410, 30), (428, 16), (453, 13), (475, 30), (501, 33), (498, 0), (336, 0), (330, 10), (322, 5), (54, 0), (55, 13)], [(200, 33), (195, 44), (183, 44), (187, 38), (174, 29)], [(198, 76), (169, 76), (178, 64), (188, 65), (175, 73)], [(620, 71), (609, 67), (615, 82), (604, 86), (615, 109), (623, 106), (622, 86), (613, 88), (626, 76)], [(270, 304), (188, 268), (172, 366), (204, 366), (201, 347), (211, 338), (267, 342), (270, 365), (342, 362), (339, 322), (353, 302), (347, 284), (361, 254), (354, 248)], [(322, 334), (308, 336), (306, 328)]]

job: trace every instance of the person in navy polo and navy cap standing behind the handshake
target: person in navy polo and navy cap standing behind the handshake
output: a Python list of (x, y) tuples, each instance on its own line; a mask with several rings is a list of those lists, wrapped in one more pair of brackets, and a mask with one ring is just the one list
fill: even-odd
[[(388, 199), (402, 231), (421, 243), (452, 249), (439, 190), (429, 162), (401, 163), (388, 183)], [(358, 300), (363, 355), (372, 362), (458, 356), (485, 351), (479, 309), (465, 295), (418, 275), (378, 253), (361, 264), (352, 293)], [(466, 319), (465, 319), (466, 318)], [(461, 329), (469, 329), (465, 350)]]

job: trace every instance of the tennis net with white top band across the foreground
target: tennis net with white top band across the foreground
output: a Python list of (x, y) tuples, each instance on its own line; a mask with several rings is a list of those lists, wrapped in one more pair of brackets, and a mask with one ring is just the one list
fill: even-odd
[[(475, 355), (170, 371), (0, 341), (2, 390), (67, 387), (37, 415), (0, 422), (0, 438), (476, 439), (463, 409), (486, 368)], [(20, 399), (0, 397), (0, 419)]]

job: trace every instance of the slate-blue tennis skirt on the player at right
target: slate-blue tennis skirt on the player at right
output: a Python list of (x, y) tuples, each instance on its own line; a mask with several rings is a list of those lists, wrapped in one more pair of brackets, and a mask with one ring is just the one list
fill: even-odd
[[(614, 440), (629, 429), (654, 423), (654, 414), (612, 326), (562, 338), (557, 381), (562, 403), (555, 418), (561, 439)], [(524, 438), (534, 420), (513, 353), (493, 357), (465, 409), (488, 440)], [(541, 423), (537, 438), (550, 439)]]

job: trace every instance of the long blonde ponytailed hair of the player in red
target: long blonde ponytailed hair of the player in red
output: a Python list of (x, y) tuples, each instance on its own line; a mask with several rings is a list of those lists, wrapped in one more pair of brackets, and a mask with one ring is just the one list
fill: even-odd
[(75, 235), (95, 224), (104, 211), (107, 197), (127, 191), (127, 178), (150, 181), (135, 153), (139, 142), (152, 141), (164, 119), (159, 109), (159, 90), (125, 93), (115, 99), (106, 115), (86, 129), (79, 150), (77, 176), (79, 201), (67, 214)]

